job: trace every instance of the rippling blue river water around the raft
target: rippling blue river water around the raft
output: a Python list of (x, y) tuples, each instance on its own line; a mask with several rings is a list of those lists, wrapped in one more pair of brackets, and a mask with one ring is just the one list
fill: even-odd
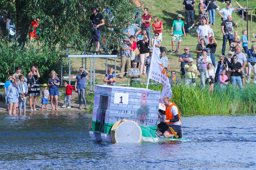
[(91, 116), (0, 114), (0, 169), (256, 169), (256, 116), (182, 117), (187, 142), (105, 143)]

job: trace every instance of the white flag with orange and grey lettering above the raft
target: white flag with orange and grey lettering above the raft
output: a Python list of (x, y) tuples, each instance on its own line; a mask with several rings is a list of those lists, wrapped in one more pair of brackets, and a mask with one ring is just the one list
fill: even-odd
[(172, 88), (168, 79), (168, 75), (165, 71), (165, 68), (162, 64), (162, 61), (159, 58), (157, 53), (155, 44), (153, 46), (153, 53), (150, 62), (150, 68), (148, 73), (148, 80), (152, 79), (158, 81), (159, 83), (163, 84), (164, 88), (160, 96), (160, 103), (164, 103), (164, 97), (172, 97)]

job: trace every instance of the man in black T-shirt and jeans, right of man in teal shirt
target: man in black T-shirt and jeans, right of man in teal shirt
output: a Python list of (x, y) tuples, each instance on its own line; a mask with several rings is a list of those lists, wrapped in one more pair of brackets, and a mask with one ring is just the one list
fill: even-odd
[[(184, 0), (183, 1), (183, 9), (185, 11), (185, 16), (186, 16), (186, 23), (187, 23), (187, 28), (190, 28), (190, 20), (191, 23), (194, 23), (194, 10), (195, 10), (195, 1), (194, 0)], [(194, 27), (196, 29), (196, 27)]]

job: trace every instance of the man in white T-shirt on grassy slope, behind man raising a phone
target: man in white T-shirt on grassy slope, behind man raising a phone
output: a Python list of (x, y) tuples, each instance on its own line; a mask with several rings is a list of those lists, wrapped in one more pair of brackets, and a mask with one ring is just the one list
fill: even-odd
[(208, 44), (208, 37), (211, 35), (211, 28), (206, 25), (206, 20), (202, 20), (202, 24), (198, 27), (196, 30), (197, 32), (197, 41), (200, 42), (200, 39), (204, 39), (204, 45), (206, 46)]

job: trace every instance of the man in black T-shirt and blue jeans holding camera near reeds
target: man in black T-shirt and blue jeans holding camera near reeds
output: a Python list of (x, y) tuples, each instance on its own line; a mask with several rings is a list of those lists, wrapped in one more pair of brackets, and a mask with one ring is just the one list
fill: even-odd
[(241, 63), (237, 61), (237, 56), (233, 56), (233, 63), (230, 64), (231, 68), (228, 71), (231, 72), (231, 80), (233, 88), (236, 88), (236, 83), (240, 89), (243, 89), (243, 83), (241, 79), (242, 71), (244, 70)]

